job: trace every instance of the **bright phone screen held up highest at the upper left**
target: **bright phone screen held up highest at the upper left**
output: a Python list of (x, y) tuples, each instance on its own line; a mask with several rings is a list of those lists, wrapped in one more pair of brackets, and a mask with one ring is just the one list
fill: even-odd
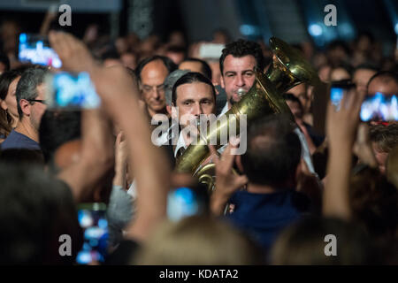
[(19, 34), (18, 59), (23, 63), (50, 65), (60, 68), (62, 62), (57, 53), (50, 48), (47, 36), (40, 34)]

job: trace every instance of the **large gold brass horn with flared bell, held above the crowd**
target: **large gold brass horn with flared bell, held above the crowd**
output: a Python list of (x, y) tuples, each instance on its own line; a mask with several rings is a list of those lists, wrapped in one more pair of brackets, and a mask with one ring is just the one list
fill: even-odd
[[(218, 119), (217, 127), (210, 128), (204, 139), (198, 140), (195, 145), (188, 146), (183, 155), (177, 159), (175, 168), (177, 172), (192, 173), (198, 177), (199, 182), (212, 190), (214, 164), (202, 165), (210, 155), (207, 144), (214, 141), (216, 137), (219, 141), (220, 133), (228, 131), (230, 124), (233, 123), (237, 127), (235, 133), (239, 133), (240, 119), (243, 114), (246, 115), (247, 125), (254, 119), (273, 113), (287, 113), (292, 121), (295, 120), (281, 95), (302, 82), (317, 84), (318, 73), (298, 50), (293, 49), (286, 42), (272, 37), (270, 47), (274, 57), (268, 71), (265, 74), (256, 72), (256, 83), (246, 95), (242, 96), (239, 103), (233, 104), (232, 108), (226, 112), (227, 119)], [(216, 146), (216, 148), (219, 147), (220, 145)]]

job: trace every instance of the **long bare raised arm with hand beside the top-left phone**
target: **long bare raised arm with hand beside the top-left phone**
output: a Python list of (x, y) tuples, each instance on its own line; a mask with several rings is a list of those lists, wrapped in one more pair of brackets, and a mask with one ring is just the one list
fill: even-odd
[(65, 69), (90, 74), (104, 109), (126, 134), (138, 195), (136, 218), (127, 236), (143, 240), (165, 218), (170, 168), (165, 152), (151, 142), (149, 121), (140, 111), (137, 83), (121, 66), (105, 69), (96, 65), (85, 45), (71, 34), (51, 32), (50, 42)]

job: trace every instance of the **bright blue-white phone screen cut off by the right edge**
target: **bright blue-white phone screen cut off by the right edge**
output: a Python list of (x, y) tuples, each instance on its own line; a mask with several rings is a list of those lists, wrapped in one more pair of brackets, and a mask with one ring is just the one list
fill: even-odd
[(361, 105), (360, 117), (364, 122), (390, 122), (398, 120), (398, 95), (385, 95), (377, 92), (368, 95)]

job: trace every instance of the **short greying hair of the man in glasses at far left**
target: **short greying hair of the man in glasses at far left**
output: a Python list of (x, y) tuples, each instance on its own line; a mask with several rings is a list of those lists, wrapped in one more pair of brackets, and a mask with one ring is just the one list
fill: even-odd
[(19, 119), (22, 119), (23, 116), (22, 109), (19, 105), (20, 100), (35, 99), (38, 96), (37, 86), (44, 82), (44, 77), (48, 72), (49, 70), (47, 67), (34, 66), (22, 73), (16, 90)]

